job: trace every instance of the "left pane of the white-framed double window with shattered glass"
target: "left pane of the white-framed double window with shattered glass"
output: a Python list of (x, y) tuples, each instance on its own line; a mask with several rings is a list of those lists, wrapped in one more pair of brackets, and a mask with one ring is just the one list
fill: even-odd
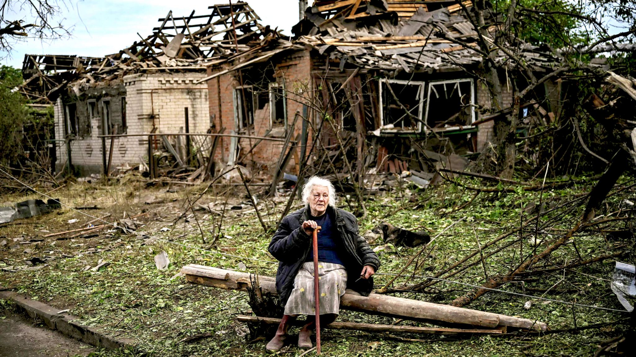
[(422, 130), (424, 82), (380, 79), (380, 124), (399, 131)]

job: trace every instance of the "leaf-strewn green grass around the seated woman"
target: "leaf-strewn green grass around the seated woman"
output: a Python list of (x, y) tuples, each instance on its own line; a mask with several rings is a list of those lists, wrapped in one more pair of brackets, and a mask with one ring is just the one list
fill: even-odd
[[(628, 178), (623, 179), (626, 182)], [(476, 181), (464, 181), (472, 185), (480, 185)], [(579, 192), (589, 192), (593, 182), (583, 182), (569, 189), (543, 192), (543, 201), (552, 205), (562, 203)], [(455, 220), (466, 216), (466, 220), (452, 227), (436, 239), (431, 255), (417, 274), (432, 275), (453, 262), (461, 259), (477, 248), (476, 236), (483, 245), (490, 239), (520, 224), (520, 219), (528, 219), (530, 215), (522, 213), (528, 203), (538, 203), (540, 192), (524, 192), (515, 187), (510, 191), (499, 193), (481, 193), (473, 203), (462, 210), (451, 212), (453, 207), (462, 205), (473, 198), (474, 192), (466, 191), (458, 185), (442, 185), (420, 190), (417, 187), (406, 187), (402, 183), (400, 189), (379, 192), (370, 196), (367, 203), (368, 218), (359, 222), (361, 232), (386, 220), (394, 226), (404, 229), (431, 229), (434, 234), (441, 232)], [(165, 187), (146, 189), (144, 183), (134, 177), (125, 177), (121, 182), (105, 185), (76, 184), (56, 191), (63, 203), (70, 206), (98, 205), (100, 210), (85, 211), (96, 217), (111, 213), (109, 221), (146, 210), (149, 215), (140, 217), (144, 223), (138, 231), (169, 239), (174, 242), (205, 248), (198, 226), (192, 222), (179, 221), (172, 225), (174, 219), (183, 211), (186, 198), (202, 191), (204, 187), (188, 187), (177, 192), (167, 192)], [(207, 204), (223, 201), (225, 195), (216, 188), (199, 201)], [(252, 192), (254, 193), (254, 192)], [(153, 195), (162, 198), (163, 203), (145, 205), (144, 196)], [(242, 187), (234, 187), (228, 191), (228, 206), (247, 201)], [(626, 190), (607, 200), (603, 212), (607, 214), (618, 210), (623, 199), (633, 201), (635, 192)], [(409, 207), (409, 197), (424, 201), (424, 207)], [(6, 196), (4, 205), (29, 198), (39, 198), (37, 194), (27, 196)], [(282, 201), (282, 200), (279, 200)], [(273, 226), (279, 219), (280, 211), (285, 203), (275, 203), (262, 199), (259, 202), (265, 220)], [(344, 202), (342, 202), (344, 205)], [(406, 208), (403, 208), (406, 207)], [(403, 209), (402, 209), (403, 208)], [(245, 209), (243, 212), (245, 212)], [(269, 213), (269, 214), (268, 214)], [(191, 214), (191, 213), (190, 213)], [(207, 242), (212, 240), (214, 229), (218, 229), (218, 217), (196, 212)], [(581, 207), (564, 212), (555, 210), (542, 217), (542, 222), (551, 222), (553, 229), (570, 229), (581, 215)], [(68, 224), (70, 219), (79, 219), (76, 224)], [(202, 252), (184, 246), (156, 241), (151, 245), (137, 239), (136, 234), (125, 235), (119, 231), (102, 232), (93, 238), (73, 238), (57, 240), (58, 237), (45, 238), (44, 241), (29, 245), (18, 245), (13, 238), (24, 237), (25, 240), (41, 237), (48, 232), (66, 231), (81, 227), (90, 220), (79, 213), (63, 208), (58, 212), (32, 217), (0, 227), (0, 235), (6, 236), (8, 245), (0, 250), (0, 267), (24, 266), (25, 259), (31, 257), (54, 257), (39, 270), (21, 270), (17, 273), (2, 271), (2, 285), (14, 288), (18, 293), (29, 295), (55, 307), (71, 307), (71, 314), (79, 316), (83, 323), (106, 328), (109, 333), (118, 337), (128, 337), (138, 341), (139, 350), (153, 356), (261, 356), (265, 340), (250, 342), (247, 327), (233, 320), (235, 314), (249, 311), (247, 295), (242, 292), (217, 290), (204, 286), (188, 285), (183, 278), (176, 277), (181, 266), (197, 263), (208, 266), (239, 269), (242, 262), (247, 271), (258, 272), (270, 276), (275, 275), (276, 265), (268, 262), (226, 257), (217, 253)], [(613, 224), (617, 229), (631, 227), (632, 221)], [(162, 231), (163, 227), (170, 228)], [(534, 230), (533, 230), (534, 231)], [(225, 251), (232, 255), (251, 257), (261, 260), (274, 260), (266, 252), (271, 232), (265, 234), (254, 213), (226, 213), (221, 227), (223, 238), (218, 241), (214, 250)], [(558, 231), (539, 232), (543, 239), (537, 249), (544, 248), (550, 239), (554, 239)], [(534, 232), (524, 232), (524, 254), (534, 247), (529, 246), (527, 237)], [(504, 239), (501, 244), (518, 238), (513, 235)], [(121, 243), (121, 244), (120, 244)], [(382, 244), (377, 241), (374, 246)], [(576, 249), (574, 247), (576, 244)], [(117, 246), (115, 246), (117, 245)], [(578, 254), (583, 259), (616, 250), (628, 250), (632, 242), (607, 239), (607, 234), (586, 231), (577, 234), (572, 243), (557, 250), (550, 257), (555, 264), (572, 262)], [(25, 247), (31, 253), (22, 253)], [(115, 246), (104, 252), (93, 252)], [(93, 249), (91, 249), (93, 248)], [(397, 248), (394, 252), (380, 254), (383, 266), (379, 273), (398, 273), (410, 257), (420, 248)], [(505, 273), (519, 264), (521, 246), (515, 243), (485, 260), (484, 264), (476, 264), (462, 273), (453, 276), (452, 280), (473, 285), (485, 281), (485, 274), (493, 276)], [(170, 259), (167, 271), (158, 271), (153, 258), (165, 250)], [(576, 252), (578, 250), (578, 253)], [(62, 255), (65, 254), (65, 255)], [(71, 256), (66, 258), (66, 256)], [(633, 257), (633, 256), (632, 256)], [(110, 265), (99, 271), (86, 270), (94, 267), (99, 260), (109, 261)], [(539, 263), (541, 267), (544, 262)], [(549, 266), (549, 265), (546, 265)], [(614, 268), (614, 260), (605, 260), (589, 266), (577, 267), (573, 271), (554, 271), (541, 276), (529, 276), (522, 286), (520, 283), (504, 285), (503, 290), (523, 292), (541, 296), (550, 288), (544, 297), (551, 299), (578, 302), (613, 309), (622, 309), (616, 297), (611, 293), (609, 280)], [(408, 273), (413, 273), (412, 268)], [(392, 276), (377, 275), (376, 285), (380, 288)], [(394, 286), (409, 285), (422, 278), (399, 278)], [(467, 286), (452, 283), (438, 283), (433, 293), (399, 293), (398, 296), (410, 299), (431, 300), (434, 302), (450, 302), (471, 291)], [(534, 289), (534, 290), (533, 290)], [(532, 300), (534, 305), (527, 311), (523, 304)], [(604, 323), (625, 317), (625, 314), (575, 307), (574, 312), (569, 304), (557, 302), (544, 303), (539, 299), (528, 299), (504, 293), (487, 293), (468, 306), (494, 313), (509, 314), (544, 321), (552, 329), (574, 327), (573, 313), (578, 326)], [(3, 302), (2, 309), (9, 309), (10, 304)], [(2, 312), (0, 311), (0, 315)], [(341, 321), (367, 323), (388, 323), (395, 320), (382, 316), (342, 311)], [(408, 322), (403, 322), (408, 323)], [(600, 329), (584, 330), (578, 333), (555, 333), (541, 336), (525, 337), (491, 337), (473, 336), (458, 339), (457, 337), (422, 337), (421, 335), (401, 335), (391, 337), (381, 333), (352, 331), (326, 331), (322, 334), (322, 351), (326, 356), (555, 356), (565, 355), (588, 356), (593, 354), (600, 340), (609, 339), (621, 333), (623, 325), (609, 325)], [(198, 333), (212, 333), (213, 337), (191, 343), (179, 343), (180, 340)], [(295, 333), (292, 330), (291, 333)], [(405, 339), (424, 339), (410, 341)], [(303, 351), (292, 346), (287, 349), (287, 356), (298, 356)], [(98, 351), (95, 356), (123, 356), (138, 354), (131, 351)]]

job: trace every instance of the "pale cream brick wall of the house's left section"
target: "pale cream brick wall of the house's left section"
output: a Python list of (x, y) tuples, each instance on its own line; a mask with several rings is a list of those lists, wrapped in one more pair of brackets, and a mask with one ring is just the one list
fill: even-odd
[[(118, 84), (102, 86), (97, 90), (86, 90), (79, 98), (59, 98), (55, 103), (55, 135), (64, 138), (64, 105), (63, 101), (76, 103), (78, 109), (84, 108), (86, 102), (96, 100), (99, 108), (99, 119), (91, 121), (91, 133), (84, 138), (71, 141), (71, 161), (79, 168), (82, 175), (90, 172), (102, 172), (102, 133), (103, 100), (111, 101), (111, 118), (121, 122), (121, 100), (126, 100), (127, 133), (149, 133), (153, 128), (153, 113), (158, 132), (178, 133), (185, 130), (184, 108), (188, 107), (190, 132), (205, 133), (210, 126), (208, 109), (208, 91), (205, 84), (194, 84), (205, 76), (203, 72), (179, 74), (132, 74), (123, 78), (123, 90), (115, 95), (104, 95), (113, 91)], [(98, 93), (102, 93), (101, 95)], [(106, 155), (111, 139), (106, 139)], [(57, 143), (58, 162), (61, 167), (66, 162), (66, 146)], [(148, 162), (147, 137), (119, 137), (113, 140), (113, 158), (111, 167), (139, 165)]]

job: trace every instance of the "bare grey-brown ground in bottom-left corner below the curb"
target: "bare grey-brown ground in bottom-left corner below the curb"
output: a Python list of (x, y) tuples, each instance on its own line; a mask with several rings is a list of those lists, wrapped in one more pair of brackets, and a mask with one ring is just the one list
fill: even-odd
[(88, 356), (95, 348), (41, 327), (20, 314), (0, 320), (0, 357)]

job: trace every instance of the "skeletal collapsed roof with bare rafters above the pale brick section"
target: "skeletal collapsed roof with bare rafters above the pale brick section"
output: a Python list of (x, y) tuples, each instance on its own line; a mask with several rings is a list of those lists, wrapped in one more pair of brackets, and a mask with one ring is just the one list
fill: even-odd
[[(205, 65), (240, 57), (255, 47), (275, 46), (280, 34), (258, 23), (244, 2), (209, 6), (209, 13), (159, 19), (151, 35), (105, 57), (25, 55), (20, 90), (36, 102), (50, 102), (67, 87), (76, 93), (139, 71), (201, 71)], [(236, 34), (236, 36), (235, 36)], [(282, 41), (282, 40), (280, 40)], [(286, 41), (287, 42), (287, 41)]]

